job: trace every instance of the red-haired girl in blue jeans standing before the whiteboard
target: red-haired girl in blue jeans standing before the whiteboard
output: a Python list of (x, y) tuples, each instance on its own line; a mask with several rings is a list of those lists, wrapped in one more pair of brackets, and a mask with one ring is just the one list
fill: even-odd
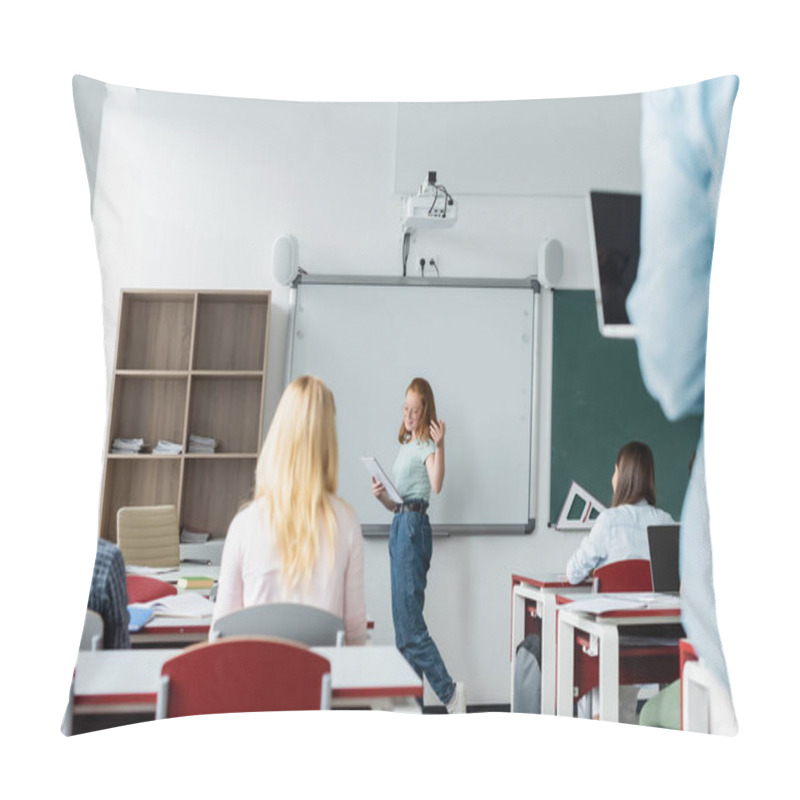
[(395, 505), (374, 478), (372, 493), (394, 512), (389, 561), (395, 644), (453, 714), (466, 711), (464, 684), (450, 677), (422, 616), (433, 550), (427, 510), (431, 491), (439, 494), (444, 483), (444, 434), (444, 421), (436, 418), (433, 389), (424, 378), (414, 378), (406, 390), (397, 436), (400, 450), (392, 470), (403, 502)]

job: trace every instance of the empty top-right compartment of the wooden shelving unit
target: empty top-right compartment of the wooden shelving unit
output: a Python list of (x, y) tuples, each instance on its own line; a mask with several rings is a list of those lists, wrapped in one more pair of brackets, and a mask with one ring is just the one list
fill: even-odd
[(268, 322), (268, 292), (198, 294), (193, 368), (263, 371)]

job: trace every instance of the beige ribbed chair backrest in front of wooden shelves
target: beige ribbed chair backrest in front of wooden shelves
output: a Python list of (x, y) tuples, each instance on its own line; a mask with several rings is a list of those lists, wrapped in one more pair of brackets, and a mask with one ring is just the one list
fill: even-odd
[(126, 565), (177, 567), (179, 539), (175, 506), (125, 506), (117, 512), (117, 545)]

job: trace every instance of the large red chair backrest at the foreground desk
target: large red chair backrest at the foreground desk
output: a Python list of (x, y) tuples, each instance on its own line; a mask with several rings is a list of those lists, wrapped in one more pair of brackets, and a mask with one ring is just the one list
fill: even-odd
[(156, 719), (329, 709), (330, 672), (326, 658), (282, 639), (203, 642), (164, 662)]

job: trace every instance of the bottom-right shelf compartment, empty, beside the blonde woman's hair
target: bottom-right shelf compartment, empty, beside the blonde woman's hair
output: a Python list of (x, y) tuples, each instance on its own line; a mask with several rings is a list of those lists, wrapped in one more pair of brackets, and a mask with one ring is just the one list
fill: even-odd
[(215, 539), (224, 537), (236, 513), (252, 499), (255, 469), (255, 457), (186, 459), (182, 524)]

